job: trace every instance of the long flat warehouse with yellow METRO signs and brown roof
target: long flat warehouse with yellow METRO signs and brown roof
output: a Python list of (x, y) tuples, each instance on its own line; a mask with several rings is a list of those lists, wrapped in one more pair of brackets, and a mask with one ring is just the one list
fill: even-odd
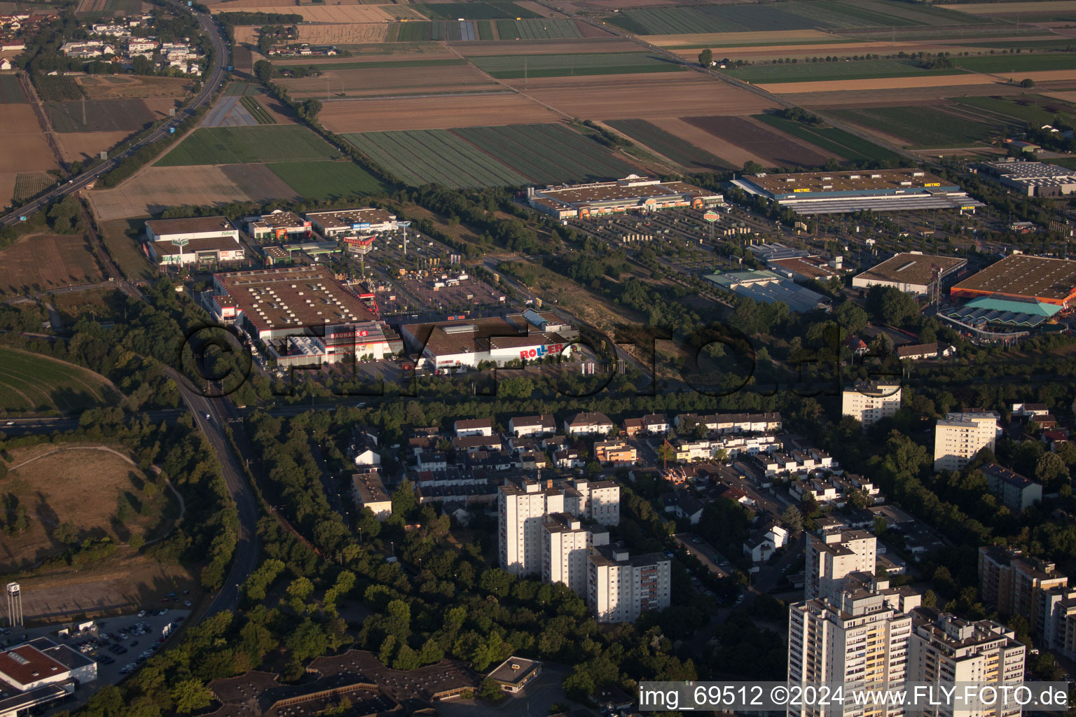
[(804, 215), (909, 210), (974, 213), (982, 206), (957, 185), (917, 169), (749, 174), (733, 184)]

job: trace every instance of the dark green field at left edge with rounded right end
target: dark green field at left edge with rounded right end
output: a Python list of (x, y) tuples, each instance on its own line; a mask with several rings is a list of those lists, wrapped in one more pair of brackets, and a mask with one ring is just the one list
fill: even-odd
[(0, 346), (0, 410), (84, 411), (123, 397), (103, 376), (38, 354)]

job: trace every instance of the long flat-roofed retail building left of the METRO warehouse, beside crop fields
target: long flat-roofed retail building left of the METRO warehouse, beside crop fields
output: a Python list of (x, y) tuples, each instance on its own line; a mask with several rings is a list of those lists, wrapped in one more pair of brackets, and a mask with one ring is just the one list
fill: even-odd
[(683, 182), (662, 182), (632, 174), (615, 182), (551, 185), (544, 189), (529, 187), (527, 202), (558, 219), (585, 219), (618, 212), (703, 210), (723, 203), (724, 197)]

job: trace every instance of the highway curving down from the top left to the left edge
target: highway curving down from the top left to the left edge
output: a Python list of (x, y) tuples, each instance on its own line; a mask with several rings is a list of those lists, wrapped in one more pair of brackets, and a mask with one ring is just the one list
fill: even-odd
[[(171, 2), (178, 9), (180, 9), (181, 12), (187, 12), (187, 8), (181, 4), (180, 2), (176, 2), (175, 0), (169, 0), (169, 2)], [(204, 78), (204, 84), (202, 85), (201, 91), (198, 92), (197, 96), (195, 96), (195, 98), (187, 104), (187, 106), (179, 111), (174, 117), (166, 121), (157, 129), (153, 130), (153, 132), (151, 132), (148, 135), (139, 140), (138, 142), (136, 142), (130, 147), (119, 153), (115, 157), (112, 157), (111, 159), (107, 160), (104, 163), (93, 167), (91, 169), (86, 170), (82, 174), (71, 177), (71, 180), (67, 184), (59, 185), (48, 193), (39, 197), (29, 204), (20, 206), (15, 211), (11, 212), (10, 214), (0, 217), (0, 226), (16, 224), (20, 220), (19, 217), (30, 216), (38, 210), (42, 209), (43, 206), (47, 206), (57, 199), (61, 199), (63, 197), (67, 197), (68, 195), (79, 191), (80, 189), (83, 189), (84, 187), (86, 187), (86, 185), (91, 184), (97, 178), (98, 175), (114, 170), (116, 167), (119, 166), (121, 162), (123, 162), (123, 160), (125, 160), (127, 157), (134, 154), (145, 145), (152, 144), (157, 140), (167, 137), (169, 129), (178, 126), (184, 119), (187, 119), (188, 117), (194, 115), (194, 113), (200, 106), (210, 102), (213, 99), (213, 96), (218, 89), (218, 85), (221, 84), (221, 81), (224, 77), (224, 72), (225, 72), (224, 66), (228, 61), (228, 44), (221, 28), (216, 25), (216, 23), (213, 21), (213, 19), (209, 15), (204, 13), (195, 12), (194, 16), (198, 19), (198, 24), (201, 26), (202, 31), (204, 31), (206, 34), (209, 35), (210, 39), (212, 40), (213, 52), (216, 53), (216, 58), (213, 63), (213, 71), (209, 74), (208, 77)]]

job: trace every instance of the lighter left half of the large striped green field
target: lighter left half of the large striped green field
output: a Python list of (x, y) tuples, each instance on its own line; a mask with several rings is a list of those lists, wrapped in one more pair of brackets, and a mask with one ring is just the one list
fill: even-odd
[(349, 142), (411, 185), (498, 187), (527, 184), (526, 177), (467, 144), (449, 130), (345, 134)]

